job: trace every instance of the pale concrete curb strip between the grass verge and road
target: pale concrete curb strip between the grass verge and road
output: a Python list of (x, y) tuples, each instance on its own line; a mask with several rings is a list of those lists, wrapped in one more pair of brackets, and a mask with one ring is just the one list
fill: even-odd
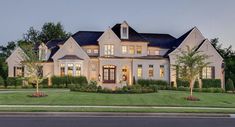
[(115, 113), (115, 112), (0, 112), (5, 117), (167, 117), (167, 118), (231, 118), (230, 114), (206, 113)]

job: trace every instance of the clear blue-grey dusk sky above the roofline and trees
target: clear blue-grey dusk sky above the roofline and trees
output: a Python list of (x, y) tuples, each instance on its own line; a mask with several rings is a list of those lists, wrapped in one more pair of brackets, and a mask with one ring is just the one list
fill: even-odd
[(1, 0), (0, 45), (29, 27), (61, 22), (66, 31), (104, 31), (124, 20), (138, 32), (178, 38), (196, 26), (224, 47), (235, 47), (235, 0)]

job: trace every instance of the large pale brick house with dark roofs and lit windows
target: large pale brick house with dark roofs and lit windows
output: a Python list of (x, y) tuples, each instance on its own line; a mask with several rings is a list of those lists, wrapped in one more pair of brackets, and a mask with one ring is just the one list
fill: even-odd
[[(186, 45), (209, 55), (201, 78), (221, 79), (223, 58), (202, 33), (192, 28), (179, 38), (169, 34), (139, 33), (124, 21), (103, 31), (78, 31), (67, 40), (51, 40), (37, 47), (43, 75), (86, 76), (104, 87), (122, 87), (137, 79), (165, 80), (176, 86), (175, 54)], [(27, 76), (17, 48), (7, 59), (8, 76)], [(25, 73), (25, 74), (24, 74)]]

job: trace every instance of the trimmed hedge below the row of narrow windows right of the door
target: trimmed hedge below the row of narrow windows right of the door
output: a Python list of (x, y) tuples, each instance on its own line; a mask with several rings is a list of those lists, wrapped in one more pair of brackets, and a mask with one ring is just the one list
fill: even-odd
[(153, 80), (153, 79), (138, 79), (137, 84), (142, 87), (157, 87), (158, 89), (166, 89), (169, 84), (164, 80)]

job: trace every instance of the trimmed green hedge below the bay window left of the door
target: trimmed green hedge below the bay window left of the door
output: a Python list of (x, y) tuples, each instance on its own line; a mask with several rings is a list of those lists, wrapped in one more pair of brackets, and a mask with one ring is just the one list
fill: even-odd
[(51, 78), (53, 88), (67, 88), (69, 84), (87, 84), (88, 81), (86, 77), (72, 77), (72, 76), (53, 76)]

